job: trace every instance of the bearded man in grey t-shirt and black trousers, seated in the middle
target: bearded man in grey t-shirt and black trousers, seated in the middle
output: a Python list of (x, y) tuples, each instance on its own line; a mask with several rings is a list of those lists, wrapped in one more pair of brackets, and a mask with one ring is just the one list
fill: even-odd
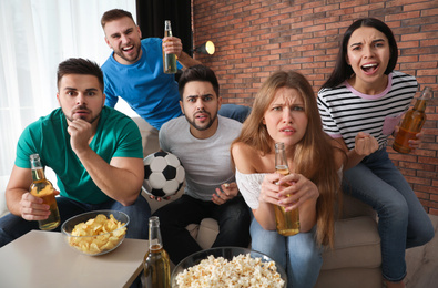
[(249, 244), (249, 209), (237, 191), (230, 145), (242, 124), (217, 115), (222, 99), (214, 72), (203, 65), (186, 69), (179, 90), (184, 116), (160, 130), (160, 146), (184, 165), (184, 195), (155, 212), (164, 249), (174, 264), (202, 248), (185, 229), (189, 224), (214, 218), (220, 233), (213, 247)]

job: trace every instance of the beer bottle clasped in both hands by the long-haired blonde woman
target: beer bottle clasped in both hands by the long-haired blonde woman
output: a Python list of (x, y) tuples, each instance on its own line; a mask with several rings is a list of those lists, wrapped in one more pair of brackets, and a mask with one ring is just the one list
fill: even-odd
[[(284, 143), (275, 143), (275, 171), (282, 175), (289, 174), (287, 165), (286, 150)], [(283, 184), (283, 186), (289, 186)], [(286, 212), (283, 206), (274, 206), (277, 233), (283, 236), (292, 236), (299, 233), (299, 212), (298, 208)]]

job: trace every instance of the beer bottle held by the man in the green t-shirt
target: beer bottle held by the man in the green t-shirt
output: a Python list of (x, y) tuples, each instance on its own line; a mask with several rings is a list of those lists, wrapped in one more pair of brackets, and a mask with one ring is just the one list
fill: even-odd
[(52, 183), (50, 183), (50, 181), (48, 181), (44, 176), (44, 169), (42, 168), (39, 154), (30, 155), (30, 165), (33, 179), (33, 183), (30, 186), (30, 194), (42, 198), (43, 203), (50, 206), (49, 218), (38, 222), (40, 229), (52, 230), (61, 223)]

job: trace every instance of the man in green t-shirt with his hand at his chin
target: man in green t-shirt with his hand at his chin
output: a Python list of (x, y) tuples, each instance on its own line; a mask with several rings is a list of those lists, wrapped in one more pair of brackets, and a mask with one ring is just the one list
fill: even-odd
[(81, 213), (116, 209), (130, 216), (126, 237), (146, 239), (151, 209), (140, 195), (141, 135), (130, 117), (104, 106), (99, 65), (84, 59), (60, 63), (57, 99), (60, 109), (31, 123), (18, 142), (6, 189), (10, 214), (0, 218), (0, 247), (38, 229), (37, 220), (50, 215), (49, 206), (29, 193), (32, 154), (57, 174), (61, 224)]

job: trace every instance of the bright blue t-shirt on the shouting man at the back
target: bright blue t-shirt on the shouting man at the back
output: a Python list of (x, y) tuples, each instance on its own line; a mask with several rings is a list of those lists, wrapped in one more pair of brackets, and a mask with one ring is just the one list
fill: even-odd
[[(177, 83), (173, 74), (163, 72), (161, 39), (143, 39), (142, 51), (141, 59), (131, 65), (115, 61), (114, 52), (103, 63), (105, 105), (114, 107), (120, 96), (142, 119), (160, 130), (165, 122), (182, 114)], [(177, 68), (182, 65), (177, 63)]]

